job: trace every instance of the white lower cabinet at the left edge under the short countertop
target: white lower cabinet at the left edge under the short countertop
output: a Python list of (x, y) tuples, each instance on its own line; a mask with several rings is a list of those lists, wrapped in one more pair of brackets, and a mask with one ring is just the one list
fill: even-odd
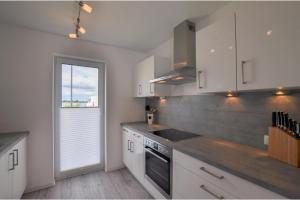
[(0, 199), (20, 199), (27, 183), (26, 138), (0, 158)]

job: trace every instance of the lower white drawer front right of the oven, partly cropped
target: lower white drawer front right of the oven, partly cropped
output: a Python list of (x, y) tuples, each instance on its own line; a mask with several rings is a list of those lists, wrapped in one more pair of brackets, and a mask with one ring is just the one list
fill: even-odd
[(177, 163), (173, 165), (173, 195), (184, 199), (236, 198)]

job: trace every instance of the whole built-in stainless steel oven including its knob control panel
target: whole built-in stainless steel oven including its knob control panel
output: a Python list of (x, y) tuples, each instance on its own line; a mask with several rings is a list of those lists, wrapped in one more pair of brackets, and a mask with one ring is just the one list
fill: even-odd
[(171, 198), (171, 149), (145, 138), (145, 177), (166, 198)]

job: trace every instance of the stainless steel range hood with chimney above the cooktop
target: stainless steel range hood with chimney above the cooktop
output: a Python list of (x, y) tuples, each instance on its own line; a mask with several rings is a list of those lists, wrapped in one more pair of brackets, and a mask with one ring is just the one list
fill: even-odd
[(151, 83), (179, 85), (196, 81), (195, 24), (188, 20), (174, 28), (173, 70), (151, 80)]

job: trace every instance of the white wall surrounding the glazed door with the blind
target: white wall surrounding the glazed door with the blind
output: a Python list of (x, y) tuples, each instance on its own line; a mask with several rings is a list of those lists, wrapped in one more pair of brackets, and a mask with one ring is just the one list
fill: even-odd
[(120, 122), (144, 119), (133, 99), (132, 67), (144, 54), (63, 36), (0, 26), (0, 132), (29, 130), (28, 188), (53, 183), (53, 53), (107, 63), (107, 169), (123, 166)]

